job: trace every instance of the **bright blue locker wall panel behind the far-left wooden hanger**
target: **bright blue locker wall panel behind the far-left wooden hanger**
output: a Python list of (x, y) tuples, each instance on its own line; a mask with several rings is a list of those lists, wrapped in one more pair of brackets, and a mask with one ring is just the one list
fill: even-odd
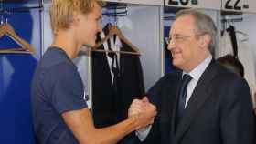
[[(30, 82), (41, 54), (39, 9), (13, 12), (8, 23), (16, 34), (36, 48), (36, 54), (0, 54), (0, 143), (34, 144), (30, 108)], [(1, 37), (1, 48), (19, 47), (8, 36)]]

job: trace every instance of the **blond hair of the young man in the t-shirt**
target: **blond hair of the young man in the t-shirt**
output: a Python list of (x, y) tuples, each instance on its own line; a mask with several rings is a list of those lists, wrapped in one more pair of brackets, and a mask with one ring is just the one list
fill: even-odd
[(53, 32), (69, 29), (73, 12), (87, 15), (95, 4), (101, 5), (97, 0), (52, 0), (49, 13)]

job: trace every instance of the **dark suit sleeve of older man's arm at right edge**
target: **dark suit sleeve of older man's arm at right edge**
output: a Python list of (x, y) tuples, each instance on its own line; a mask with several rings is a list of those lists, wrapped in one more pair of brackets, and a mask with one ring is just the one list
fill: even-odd
[(252, 144), (253, 114), (250, 89), (244, 79), (236, 79), (225, 89), (220, 112), (223, 144)]

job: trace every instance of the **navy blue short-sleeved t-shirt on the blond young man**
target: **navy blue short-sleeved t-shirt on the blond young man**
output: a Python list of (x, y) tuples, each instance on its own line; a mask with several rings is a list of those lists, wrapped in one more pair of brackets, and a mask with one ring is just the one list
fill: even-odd
[(78, 144), (61, 114), (87, 108), (77, 67), (62, 49), (49, 47), (31, 86), (34, 129), (40, 144)]

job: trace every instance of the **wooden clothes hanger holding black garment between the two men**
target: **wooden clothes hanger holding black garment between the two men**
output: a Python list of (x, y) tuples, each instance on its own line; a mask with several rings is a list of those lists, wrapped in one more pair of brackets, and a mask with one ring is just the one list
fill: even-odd
[[(131, 55), (141, 55), (139, 48), (134, 46), (126, 37), (123, 36), (121, 30), (117, 26), (108, 26), (109, 28), (109, 34), (105, 36), (99, 43), (96, 44), (96, 46), (93, 47), (93, 51), (97, 52), (110, 52), (110, 53), (123, 53), (123, 54), (131, 54)], [(109, 40), (112, 36), (118, 36), (125, 44), (130, 46), (134, 52), (126, 52), (126, 51), (112, 51), (112, 50), (100, 50), (97, 49), (99, 46), (101, 46), (103, 43), (105, 43), (107, 40)]]

